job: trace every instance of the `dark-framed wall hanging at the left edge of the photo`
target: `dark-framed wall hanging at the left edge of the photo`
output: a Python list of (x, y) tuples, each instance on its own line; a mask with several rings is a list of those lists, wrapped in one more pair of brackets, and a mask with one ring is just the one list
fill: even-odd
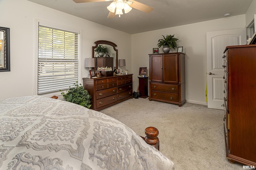
[(10, 71), (10, 28), (0, 27), (0, 71)]

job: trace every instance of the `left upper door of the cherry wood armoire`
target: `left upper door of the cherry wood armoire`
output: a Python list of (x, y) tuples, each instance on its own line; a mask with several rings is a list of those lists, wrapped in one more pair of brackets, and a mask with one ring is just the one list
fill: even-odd
[(163, 82), (162, 55), (150, 55), (150, 81)]

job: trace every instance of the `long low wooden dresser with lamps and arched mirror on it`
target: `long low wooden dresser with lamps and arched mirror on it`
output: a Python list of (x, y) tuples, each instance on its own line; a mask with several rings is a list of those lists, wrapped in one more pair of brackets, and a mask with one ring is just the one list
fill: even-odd
[(92, 96), (91, 109), (97, 111), (132, 98), (132, 74), (83, 78), (83, 86)]

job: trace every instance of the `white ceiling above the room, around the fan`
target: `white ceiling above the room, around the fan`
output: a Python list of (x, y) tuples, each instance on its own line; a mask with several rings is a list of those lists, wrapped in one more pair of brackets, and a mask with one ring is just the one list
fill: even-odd
[(154, 8), (149, 14), (132, 9), (119, 18), (107, 18), (108, 2), (75, 3), (73, 0), (28, 0), (86, 20), (134, 34), (245, 14), (252, 0), (136, 0)]

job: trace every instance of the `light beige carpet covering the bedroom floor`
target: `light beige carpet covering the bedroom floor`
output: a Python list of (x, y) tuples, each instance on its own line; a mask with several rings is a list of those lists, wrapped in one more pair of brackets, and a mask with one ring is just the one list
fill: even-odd
[(226, 158), (224, 111), (186, 103), (182, 107), (148, 99), (129, 99), (101, 110), (145, 136), (149, 126), (159, 131), (160, 152), (176, 170), (242, 170)]

